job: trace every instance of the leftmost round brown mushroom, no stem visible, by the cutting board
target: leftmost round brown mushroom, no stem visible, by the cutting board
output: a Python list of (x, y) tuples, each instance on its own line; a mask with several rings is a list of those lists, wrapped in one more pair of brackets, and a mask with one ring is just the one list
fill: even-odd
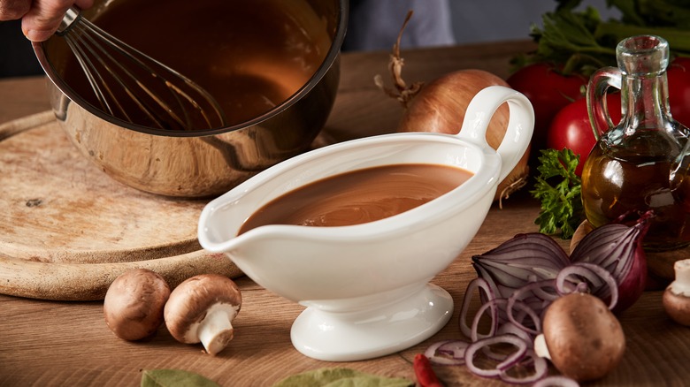
[(165, 279), (149, 269), (129, 269), (112, 281), (103, 299), (105, 323), (125, 340), (152, 335), (163, 323), (170, 296)]

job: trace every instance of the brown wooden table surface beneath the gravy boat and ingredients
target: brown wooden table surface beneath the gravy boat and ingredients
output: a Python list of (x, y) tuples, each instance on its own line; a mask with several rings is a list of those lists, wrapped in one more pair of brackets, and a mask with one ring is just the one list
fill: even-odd
[[(403, 77), (432, 80), (445, 72), (479, 68), (507, 77), (509, 59), (532, 48), (505, 42), (443, 49), (403, 51)], [(372, 78), (387, 80), (387, 52), (342, 57), (341, 88), (326, 133), (336, 140), (395, 131), (403, 110), (377, 89)], [(49, 109), (42, 78), (0, 80), (0, 123)], [(0, 171), (2, 173), (2, 171)], [(473, 277), (472, 254), (480, 254), (518, 232), (537, 231), (538, 205), (526, 190), (494, 206), (476, 238), (433, 283), (456, 302), (449, 324), (426, 342), (375, 360), (335, 363), (313, 360), (290, 344), (289, 330), (303, 307), (265, 291), (246, 277), (237, 280), (244, 304), (234, 322), (232, 344), (216, 357), (200, 345), (177, 343), (165, 330), (131, 343), (116, 338), (103, 321), (99, 301), (58, 302), (0, 295), (0, 385), (138, 385), (142, 369), (181, 368), (223, 386), (267, 386), (306, 370), (348, 367), (414, 380), (411, 360), (427, 345), (460, 338), (457, 310)], [(686, 385), (690, 381), (690, 330), (664, 315), (661, 292), (646, 292), (620, 315), (627, 351), (622, 363), (595, 385)], [(501, 385), (470, 375), (464, 368), (436, 368), (447, 385)]]

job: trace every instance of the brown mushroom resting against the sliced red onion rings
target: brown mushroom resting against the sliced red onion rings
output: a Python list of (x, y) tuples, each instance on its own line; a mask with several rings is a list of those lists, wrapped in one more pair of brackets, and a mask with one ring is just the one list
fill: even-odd
[(620, 322), (602, 300), (574, 292), (548, 306), (534, 351), (579, 382), (605, 376), (625, 352)]

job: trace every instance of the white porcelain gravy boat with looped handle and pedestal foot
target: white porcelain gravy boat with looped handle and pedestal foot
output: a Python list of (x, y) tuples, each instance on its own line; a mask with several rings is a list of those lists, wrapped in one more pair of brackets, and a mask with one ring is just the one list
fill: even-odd
[[(510, 122), (498, 149), (486, 132), (508, 102)], [(464, 250), (490, 209), (498, 183), (533, 133), (533, 109), (508, 87), (474, 96), (459, 134), (393, 133), (318, 148), (279, 163), (211, 201), (199, 241), (225, 253), (265, 289), (306, 307), (290, 337), (318, 360), (365, 360), (430, 338), (453, 313), (453, 300), (429, 281)], [(268, 201), (315, 180), (363, 168), (433, 163), (473, 173), (448, 194), (378, 221), (337, 227), (265, 225), (237, 236)]]

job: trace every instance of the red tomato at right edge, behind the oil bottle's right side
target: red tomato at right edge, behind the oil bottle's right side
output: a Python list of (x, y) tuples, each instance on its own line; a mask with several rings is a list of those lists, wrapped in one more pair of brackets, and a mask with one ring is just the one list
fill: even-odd
[(666, 72), (669, 109), (679, 123), (690, 125), (690, 57), (676, 57)]

